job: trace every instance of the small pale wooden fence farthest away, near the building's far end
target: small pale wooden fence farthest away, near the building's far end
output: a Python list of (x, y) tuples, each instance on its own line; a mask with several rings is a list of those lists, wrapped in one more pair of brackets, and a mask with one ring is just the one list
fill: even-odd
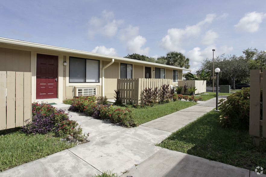
[[(189, 87), (196, 87), (195, 94), (204, 93), (206, 92), (206, 80), (179, 80), (178, 86), (182, 86), (184, 88), (184, 85)], [(184, 94), (182, 89), (182, 94)]]

